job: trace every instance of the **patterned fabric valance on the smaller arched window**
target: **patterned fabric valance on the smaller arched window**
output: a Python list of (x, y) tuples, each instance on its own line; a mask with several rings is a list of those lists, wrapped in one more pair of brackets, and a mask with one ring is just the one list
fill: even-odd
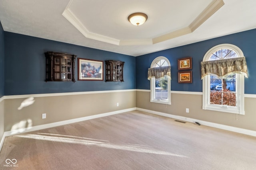
[(148, 68), (148, 80), (168, 76), (171, 79), (171, 66)]

